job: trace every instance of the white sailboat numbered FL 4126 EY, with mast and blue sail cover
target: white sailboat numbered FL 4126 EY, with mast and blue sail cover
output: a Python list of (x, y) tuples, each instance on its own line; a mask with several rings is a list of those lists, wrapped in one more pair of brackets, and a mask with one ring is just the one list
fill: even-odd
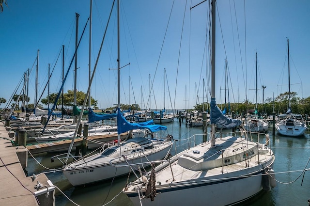
[[(167, 127), (154, 125), (150, 120), (144, 123), (127, 122), (120, 109), (120, 28), (119, 28), (119, 3), (117, 6), (118, 19), (118, 111), (117, 111), (117, 145), (102, 147), (102, 150), (89, 157), (80, 158), (70, 164), (65, 164), (63, 174), (73, 186), (85, 185), (93, 182), (107, 180), (116, 176), (128, 174), (129, 168), (116, 168), (111, 165), (126, 165), (127, 161), (140, 163), (143, 167), (149, 166), (148, 161), (156, 161), (167, 158), (172, 141), (171, 135), (160, 136), (159, 131), (167, 130)], [(114, 3), (113, 3), (114, 4)], [(113, 5), (112, 5), (113, 7)], [(86, 100), (86, 99), (85, 99)], [(85, 104), (84, 100), (84, 104)], [(84, 105), (83, 105), (84, 107)], [(80, 114), (81, 116), (81, 114)], [(80, 119), (78, 119), (80, 121)], [(145, 136), (129, 139), (121, 143), (120, 134), (133, 130), (144, 129)], [(68, 156), (67, 156), (68, 157)], [(55, 156), (53, 159), (62, 159)]]

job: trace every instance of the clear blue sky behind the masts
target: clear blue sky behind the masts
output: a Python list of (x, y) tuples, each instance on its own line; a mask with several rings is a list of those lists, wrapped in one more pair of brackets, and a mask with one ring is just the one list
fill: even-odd
[[(172, 0), (121, 0), (121, 103), (137, 103), (144, 109), (191, 109), (196, 104), (196, 90), (202, 102), (202, 78), (208, 87), (204, 45), (207, 6), (201, 0), (176, 0), (168, 24)], [(7, 101), (23, 73), (35, 62), (39, 53), (39, 91), (47, 82), (48, 63), (55, 71), (50, 92), (57, 93), (62, 79), (62, 59), (56, 63), (65, 45), (65, 71), (74, 54), (75, 13), (79, 16), (79, 37), (90, 15), (90, 2), (75, 1), (8, 1), (0, 13), (0, 97)], [(92, 70), (107, 24), (112, 0), (93, 0)], [(185, 11), (185, 14), (184, 14)], [(224, 103), (225, 59), (231, 82), (230, 101), (255, 102), (255, 51), (258, 55), (258, 102), (288, 91), (287, 37), (290, 40), (291, 90), (299, 97), (310, 96), (309, 65), (310, 1), (297, 0), (217, 0), (216, 97)], [(184, 22), (183, 22), (184, 19)], [(182, 28), (183, 25), (183, 28)], [(165, 31), (167, 33), (165, 36)], [(117, 104), (117, 35), (116, 9), (113, 10), (107, 37), (94, 76), (91, 95), (99, 108)], [(182, 41), (181, 41), (182, 36)], [(224, 43), (223, 43), (224, 42)], [(226, 51), (226, 52), (225, 52)], [(161, 54), (160, 54), (161, 53)], [(87, 91), (89, 25), (78, 49), (77, 89)], [(36, 63), (35, 63), (36, 64)], [(34, 64), (34, 65), (35, 65)], [(164, 92), (164, 68), (167, 71)], [(64, 89), (74, 88), (74, 65)], [(129, 76), (132, 90), (129, 95)], [(154, 92), (149, 99), (149, 76)], [(247, 79), (247, 81), (245, 80)], [(29, 79), (29, 96), (34, 102), (35, 66)], [(246, 83), (247, 82), (247, 83)], [(302, 82), (302, 84), (300, 84)], [(196, 89), (197, 85), (197, 89)], [(283, 86), (280, 86), (283, 85)], [(168, 87), (169, 91), (168, 92)], [(142, 88), (142, 91), (141, 91)], [(239, 98), (238, 98), (239, 90)], [(19, 90), (20, 91), (20, 90)], [(19, 94), (18, 91), (18, 94)], [(166, 95), (165, 95), (166, 94)], [(45, 91), (44, 97), (47, 96)], [(143, 96), (143, 99), (142, 97)], [(164, 98), (164, 96), (166, 98)], [(206, 101), (206, 95), (204, 101)], [(210, 95), (208, 94), (210, 101)], [(141, 103), (143, 102), (143, 103)], [(148, 104), (147, 106), (145, 106)], [(2, 104), (1, 107), (4, 105)]]

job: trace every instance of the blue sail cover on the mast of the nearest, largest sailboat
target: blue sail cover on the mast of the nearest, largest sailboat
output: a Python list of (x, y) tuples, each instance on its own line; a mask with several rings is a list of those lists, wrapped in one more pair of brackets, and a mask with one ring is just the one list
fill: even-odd
[(211, 113), (210, 121), (211, 124), (217, 124), (223, 126), (223, 128), (230, 129), (233, 127), (240, 126), (242, 122), (238, 119), (232, 119), (223, 115), (222, 111), (217, 107), (215, 98), (211, 98)]

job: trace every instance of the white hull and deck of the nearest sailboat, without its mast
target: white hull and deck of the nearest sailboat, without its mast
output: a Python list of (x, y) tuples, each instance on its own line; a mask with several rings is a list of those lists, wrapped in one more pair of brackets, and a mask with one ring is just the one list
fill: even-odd
[[(227, 141), (230, 142), (228, 139)], [(238, 142), (239, 140), (235, 142), (238, 145), (237, 147), (240, 146)], [(202, 152), (202, 148), (209, 146), (203, 143), (201, 147), (196, 146), (195, 149), (189, 151), (201, 150)], [(230, 153), (238, 153), (237, 147), (234, 147), (235, 149), (231, 150)], [(219, 148), (218, 150), (220, 151)], [(254, 153), (251, 153), (250, 150), (246, 154), (252, 154), (253, 157), (249, 158), (246, 161), (247, 163), (240, 161), (223, 167), (215, 166), (220, 162), (191, 160), (191, 158), (188, 158), (189, 156), (199, 157), (200, 155), (184, 151), (177, 158), (171, 159), (171, 168), (167, 163), (155, 168), (156, 196), (154, 201), (144, 197), (147, 187), (139, 182), (129, 184), (124, 188), (123, 192), (135, 206), (140, 206), (140, 201), (143, 206), (225, 206), (243, 202), (263, 190), (264, 177), (262, 174), (265, 168), (273, 167), (275, 159), (270, 149), (259, 149), (259, 154), (254, 152), (256, 155), (253, 155)], [(236, 161), (236, 159), (243, 156), (241, 153), (240, 155), (235, 156), (235, 160), (233, 158), (231, 160)], [(220, 157), (221, 155), (218, 158)], [(223, 162), (225, 159), (223, 159)], [(258, 161), (260, 164), (257, 164)], [(198, 162), (202, 164), (200, 165)], [(190, 169), (184, 168), (182, 165), (187, 165)], [(209, 166), (214, 166), (214, 168), (203, 169)], [(171, 171), (174, 177), (172, 177)]]

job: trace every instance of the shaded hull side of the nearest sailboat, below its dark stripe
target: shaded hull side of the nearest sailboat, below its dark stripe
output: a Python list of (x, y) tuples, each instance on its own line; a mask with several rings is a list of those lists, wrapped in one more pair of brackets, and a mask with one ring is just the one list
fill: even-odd
[[(156, 188), (155, 201), (151, 201), (150, 198), (144, 198), (141, 202), (143, 206), (202, 206), (206, 205), (206, 203), (207, 206), (225, 206), (245, 201), (263, 190), (262, 176), (258, 175), (242, 179), (236, 179), (235, 176), (237, 175), (226, 176), (227, 178), (231, 176), (235, 180), (208, 181), (205, 178), (200, 181), (184, 183), (180, 187), (172, 186), (171, 188), (163, 188), (161, 190)], [(251, 187), (248, 187), (249, 185)], [(189, 188), (184, 190), (182, 189), (184, 187)], [(225, 197), (222, 197), (223, 194)], [(129, 198), (135, 206), (140, 206), (139, 196), (129, 196)]]

